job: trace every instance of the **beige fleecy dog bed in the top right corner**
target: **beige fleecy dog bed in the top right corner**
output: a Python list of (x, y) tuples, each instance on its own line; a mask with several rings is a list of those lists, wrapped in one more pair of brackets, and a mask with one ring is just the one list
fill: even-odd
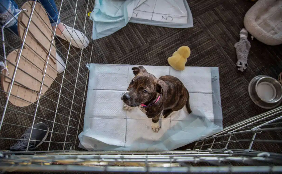
[(282, 0), (259, 0), (244, 17), (245, 28), (267, 45), (282, 44)]

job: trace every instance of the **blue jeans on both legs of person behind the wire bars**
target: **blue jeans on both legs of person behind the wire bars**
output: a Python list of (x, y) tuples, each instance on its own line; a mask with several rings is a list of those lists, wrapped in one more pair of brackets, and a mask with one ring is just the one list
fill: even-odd
[[(61, 22), (60, 18), (58, 18), (58, 10), (55, 4), (54, 0), (39, 0), (39, 2), (42, 4), (42, 6), (45, 8), (51, 26), (56, 26), (56, 22), (58, 21), (58, 24)], [(6, 26), (10, 28), (15, 34), (18, 35), (17, 31), (17, 16), (14, 17), (19, 12), (18, 5), (14, 0), (1, 0), (0, 4), (0, 24), (4, 25), (9, 20), (10, 23), (8, 23)]]

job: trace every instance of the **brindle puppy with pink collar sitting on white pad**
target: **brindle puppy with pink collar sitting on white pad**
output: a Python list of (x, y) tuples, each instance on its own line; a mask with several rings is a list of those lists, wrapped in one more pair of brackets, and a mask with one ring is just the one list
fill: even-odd
[[(158, 132), (161, 125), (159, 118), (166, 118), (173, 111), (178, 111), (186, 105), (188, 113), (191, 113), (189, 104), (189, 92), (183, 83), (176, 77), (165, 75), (157, 79), (147, 72), (143, 66), (132, 68), (135, 77), (130, 82), (127, 91), (122, 95), (126, 110), (138, 106), (146, 110), (148, 118), (152, 118), (152, 129)], [(160, 99), (157, 101), (158, 97)], [(157, 102), (156, 102), (157, 101)], [(142, 108), (140, 104), (145, 104)]]

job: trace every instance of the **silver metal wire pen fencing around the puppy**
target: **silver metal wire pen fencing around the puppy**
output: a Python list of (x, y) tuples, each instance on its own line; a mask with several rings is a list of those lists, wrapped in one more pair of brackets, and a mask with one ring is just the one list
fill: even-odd
[[(19, 5), (23, 3), (25, 1), (17, 1)], [(33, 1), (31, 6), (35, 7), (36, 3), (40, 1)], [(61, 21), (73, 28), (69, 42), (76, 42), (73, 39), (74, 29), (81, 31), (85, 35), (84, 39), (88, 37), (91, 41), (92, 22), (87, 14), (94, 8), (94, 1), (55, 0), (55, 3)], [(27, 10), (20, 9), (16, 14), (10, 13), (10, 15), (12, 19), (18, 20), (20, 13), (27, 13)], [(28, 31), (33, 23), (31, 20), (33, 15), (42, 18), (32, 8), (27, 26), (19, 21), (18, 25), (23, 25)], [(48, 52), (47, 59), (41, 58), (48, 64), (54, 58), (51, 54), (54, 46), (65, 62), (65, 70), (58, 73), (56, 78), (52, 78), (45, 66), (41, 69), (43, 73), (41, 81), (34, 78), (33, 74), (25, 72), (32, 80), (40, 83), (40, 90), (36, 91), (15, 78), (18, 71), (23, 71), (19, 66), (20, 59), (27, 59), (22, 53), (28, 48), (28, 44), (25, 44), (28, 32), (25, 32), (23, 37), (16, 35), (7, 27), (12, 19), (1, 24), (0, 61), (3, 61), (4, 65), (8, 63), (9, 66), (15, 67), (13, 73), (2, 73), (0, 77), (1, 80), (6, 78), (10, 81), (8, 91), (5, 91), (1, 84), (0, 95), (0, 113), (2, 113), (0, 145), (3, 150), (0, 152), (0, 169), (2, 171), (282, 172), (282, 106), (197, 140), (185, 151), (83, 151), (78, 148), (78, 134), (83, 130), (87, 94), (88, 70), (85, 66), (91, 62), (100, 63), (99, 60), (92, 59), (92, 56), (98, 53), (95, 44), (90, 43), (86, 48), (75, 48), (69, 42), (54, 35), (58, 28), (55, 27), (54, 31), (49, 28), (53, 31), (52, 38), (49, 38), (50, 48), (45, 50)], [(58, 21), (56, 21), (57, 25)], [(38, 26), (37, 28), (40, 29)], [(56, 43), (56, 46), (53, 43)], [(37, 56), (41, 56), (34, 48), (29, 49)], [(7, 56), (15, 50), (19, 58), (13, 63), (7, 60)], [(32, 61), (28, 63), (39, 68)], [(56, 68), (52, 68), (57, 71)], [(5, 71), (5, 66), (3, 69)], [(41, 91), (46, 86), (45, 78), (52, 79), (53, 83), (42, 94)], [(16, 85), (24, 86), (38, 95), (36, 102), (14, 95), (12, 89)], [(9, 102), (10, 98), (19, 98), (29, 104), (25, 107), (15, 106)], [(25, 130), (28, 128), (35, 130), (34, 125), (38, 122), (46, 123), (50, 129), (49, 136), (37, 151), (5, 151), (11, 144), (21, 139)], [(28, 145), (34, 142), (30, 137), (26, 140)], [(271, 147), (272, 151), (265, 148), (266, 146)]]

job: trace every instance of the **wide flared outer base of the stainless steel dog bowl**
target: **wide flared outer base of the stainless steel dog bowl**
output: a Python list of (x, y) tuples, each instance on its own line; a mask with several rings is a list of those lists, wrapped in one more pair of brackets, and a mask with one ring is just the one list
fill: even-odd
[[(281, 100), (276, 102), (276, 103), (268, 103), (268, 102), (265, 102), (263, 100), (261, 100), (261, 98), (258, 96), (257, 94), (257, 90), (256, 90), (256, 84), (257, 82), (263, 78), (263, 77), (268, 77), (266, 75), (258, 75), (256, 77), (254, 77), (250, 83), (249, 83), (249, 95), (250, 95), (250, 98), (252, 99), (252, 101), (259, 107), (261, 108), (265, 108), (265, 109), (273, 109), (273, 108), (276, 108), (277, 106), (279, 106), (279, 104), (281, 103)], [(277, 92), (276, 92), (277, 93)]]

